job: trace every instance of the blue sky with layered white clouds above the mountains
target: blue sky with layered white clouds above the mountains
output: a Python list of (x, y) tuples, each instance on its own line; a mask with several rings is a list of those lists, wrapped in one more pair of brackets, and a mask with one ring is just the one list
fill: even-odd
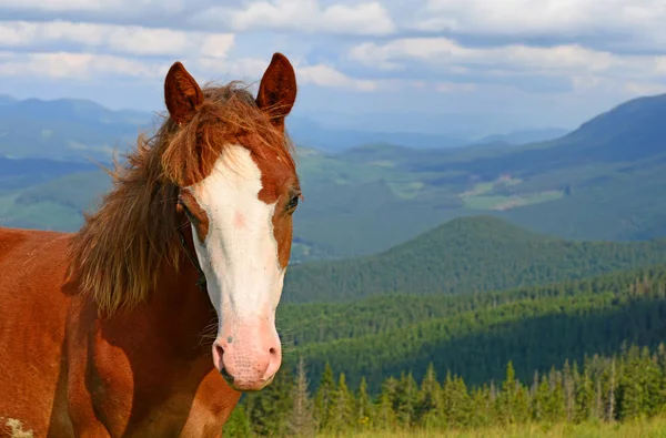
[(573, 129), (666, 90), (664, 23), (663, 0), (2, 0), (0, 93), (163, 111), (174, 61), (254, 83), (279, 51), (324, 126)]

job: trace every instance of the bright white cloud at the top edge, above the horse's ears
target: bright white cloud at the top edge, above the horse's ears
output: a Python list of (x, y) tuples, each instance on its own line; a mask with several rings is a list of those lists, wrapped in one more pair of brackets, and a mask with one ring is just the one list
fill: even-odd
[(395, 26), (379, 1), (355, 6), (321, 7), (317, 0), (260, 0), (245, 9), (213, 7), (195, 14), (192, 22), (228, 23), (235, 31), (278, 30), (309, 33), (383, 35)]

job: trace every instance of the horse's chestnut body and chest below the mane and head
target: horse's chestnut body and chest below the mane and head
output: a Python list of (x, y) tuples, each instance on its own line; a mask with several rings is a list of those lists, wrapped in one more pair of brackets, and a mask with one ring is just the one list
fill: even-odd
[(0, 431), (16, 419), (36, 437), (220, 436), (240, 393), (202, 342), (214, 309), (194, 268), (165, 268), (159, 294), (103, 318), (63, 283), (70, 238), (0, 228)]

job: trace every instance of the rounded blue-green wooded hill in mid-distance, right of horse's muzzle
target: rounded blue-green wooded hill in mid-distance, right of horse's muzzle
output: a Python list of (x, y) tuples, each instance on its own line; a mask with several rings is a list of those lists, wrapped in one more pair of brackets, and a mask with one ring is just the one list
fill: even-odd
[(571, 242), (492, 216), (453, 220), (384, 253), (292, 266), (286, 302), (455, 294), (571, 281), (666, 263), (666, 240)]

